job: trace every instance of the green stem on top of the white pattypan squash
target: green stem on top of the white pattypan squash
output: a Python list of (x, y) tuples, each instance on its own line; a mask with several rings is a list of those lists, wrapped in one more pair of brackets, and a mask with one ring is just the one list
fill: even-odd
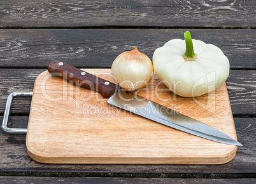
[(190, 35), (189, 31), (184, 32), (184, 38), (185, 38), (185, 42), (186, 42), (186, 51), (185, 53), (182, 55), (184, 60), (187, 61), (196, 61), (197, 59), (197, 54), (194, 53), (194, 47), (193, 47), (193, 43), (192, 43), (192, 37)]

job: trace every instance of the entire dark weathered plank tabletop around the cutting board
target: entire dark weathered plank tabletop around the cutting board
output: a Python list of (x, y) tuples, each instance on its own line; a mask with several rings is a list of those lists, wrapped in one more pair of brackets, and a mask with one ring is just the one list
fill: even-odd
[[(229, 58), (227, 89), (238, 141), (221, 165), (40, 164), (25, 135), (0, 130), (0, 182), (256, 183), (255, 1), (6, 1), (0, 3), (0, 119), (7, 96), (32, 91), (52, 60), (80, 68), (110, 68), (137, 46), (153, 51), (185, 30)], [(26, 128), (31, 100), (17, 98), (8, 126)]]

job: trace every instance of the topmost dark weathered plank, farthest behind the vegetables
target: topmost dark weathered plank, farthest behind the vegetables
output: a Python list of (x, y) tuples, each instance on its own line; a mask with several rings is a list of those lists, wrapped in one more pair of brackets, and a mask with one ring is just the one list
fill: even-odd
[(255, 1), (1, 1), (1, 27), (255, 27)]

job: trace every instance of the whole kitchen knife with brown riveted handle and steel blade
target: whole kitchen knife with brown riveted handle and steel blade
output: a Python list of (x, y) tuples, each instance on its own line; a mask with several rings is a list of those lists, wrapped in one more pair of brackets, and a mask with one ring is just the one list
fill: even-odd
[(203, 122), (121, 89), (120, 86), (113, 82), (84, 72), (67, 63), (57, 60), (50, 62), (48, 72), (52, 76), (62, 77), (76, 86), (98, 91), (103, 95), (103, 98), (109, 98), (108, 103), (111, 105), (123, 108), (147, 119), (208, 140), (242, 146), (241, 143), (230, 136)]

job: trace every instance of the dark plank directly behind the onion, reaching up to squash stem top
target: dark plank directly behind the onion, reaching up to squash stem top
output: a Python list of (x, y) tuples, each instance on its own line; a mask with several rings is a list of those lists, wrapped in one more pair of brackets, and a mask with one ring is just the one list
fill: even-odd
[[(194, 39), (218, 46), (231, 69), (256, 69), (255, 30), (188, 29)], [(45, 68), (61, 60), (79, 68), (110, 68), (136, 46), (152, 59), (155, 49), (185, 29), (1, 29), (0, 67)]]

